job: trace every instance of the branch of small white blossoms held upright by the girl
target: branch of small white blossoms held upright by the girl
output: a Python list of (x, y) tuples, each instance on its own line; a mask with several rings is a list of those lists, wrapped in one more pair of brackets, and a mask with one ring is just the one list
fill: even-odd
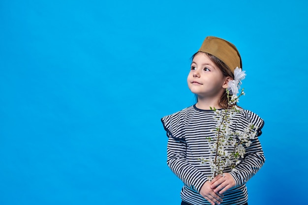
[[(205, 159), (200, 157), (201, 164), (209, 163), (213, 179), (217, 175), (223, 175), (226, 168), (230, 168), (233, 172), (236, 172), (236, 166), (241, 162), (240, 159), (244, 158), (246, 153), (246, 147), (249, 147), (251, 140), (253, 140), (257, 134), (258, 129), (253, 124), (249, 124), (248, 127), (244, 129), (244, 132), (233, 131), (230, 128), (231, 120), (236, 115), (236, 113), (241, 112), (241, 109), (236, 106), (239, 102), (239, 98), (245, 95), (244, 89), (241, 90), (240, 94), (238, 89), (241, 84), (241, 80), (245, 78), (245, 71), (239, 68), (235, 69), (235, 80), (236, 87), (233, 83), (229, 82), (229, 87), (226, 89), (228, 97), (228, 107), (224, 110), (217, 110), (216, 108), (210, 108), (216, 112), (217, 127), (213, 130), (216, 133), (216, 137), (208, 138), (211, 148), (210, 157)], [(232, 88), (231, 88), (232, 87)], [(230, 97), (230, 94), (232, 96)]]

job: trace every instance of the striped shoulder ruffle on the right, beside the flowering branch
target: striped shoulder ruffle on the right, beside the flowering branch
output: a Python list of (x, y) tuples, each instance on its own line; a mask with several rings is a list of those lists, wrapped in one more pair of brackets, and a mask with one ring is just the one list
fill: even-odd
[(244, 131), (244, 129), (251, 124), (253, 124), (254, 127), (257, 127), (257, 137), (259, 137), (262, 134), (261, 129), (264, 125), (264, 120), (249, 110), (243, 110), (241, 117), (239, 118), (239, 121), (236, 125), (236, 129)]

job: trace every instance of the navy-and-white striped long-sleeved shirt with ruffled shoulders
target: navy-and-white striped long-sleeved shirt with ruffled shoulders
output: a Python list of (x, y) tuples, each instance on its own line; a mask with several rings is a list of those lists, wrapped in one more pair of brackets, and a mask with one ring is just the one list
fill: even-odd
[[(185, 108), (175, 114), (161, 118), (167, 132), (167, 164), (171, 171), (178, 176), (184, 186), (181, 191), (183, 201), (192, 205), (210, 205), (200, 194), (202, 185), (209, 180), (211, 168), (209, 164), (200, 164), (200, 158), (210, 156), (208, 138), (216, 138), (214, 129), (217, 127), (216, 113), (212, 110), (201, 110), (195, 105)], [(230, 128), (244, 131), (249, 125), (259, 127), (258, 136), (264, 121), (251, 111), (241, 110), (232, 118)], [(246, 154), (237, 165), (236, 172), (226, 168), (235, 180), (235, 187), (224, 192), (221, 205), (243, 205), (248, 200), (246, 182), (254, 176), (265, 162), (263, 150), (258, 138), (252, 140), (246, 147)]]

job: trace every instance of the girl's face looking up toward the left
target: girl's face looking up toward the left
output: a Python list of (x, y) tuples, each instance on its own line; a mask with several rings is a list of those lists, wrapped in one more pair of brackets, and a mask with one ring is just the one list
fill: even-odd
[(187, 83), (198, 97), (219, 99), (228, 86), (227, 79), (205, 53), (197, 53), (192, 59)]

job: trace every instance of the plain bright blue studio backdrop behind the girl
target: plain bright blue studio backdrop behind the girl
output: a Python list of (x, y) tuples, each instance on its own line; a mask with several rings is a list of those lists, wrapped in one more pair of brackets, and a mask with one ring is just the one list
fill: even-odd
[(179, 205), (160, 118), (194, 103), (190, 57), (234, 43), (265, 119), (249, 205), (306, 204), (304, 0), (1, 0), (0, 205)]

